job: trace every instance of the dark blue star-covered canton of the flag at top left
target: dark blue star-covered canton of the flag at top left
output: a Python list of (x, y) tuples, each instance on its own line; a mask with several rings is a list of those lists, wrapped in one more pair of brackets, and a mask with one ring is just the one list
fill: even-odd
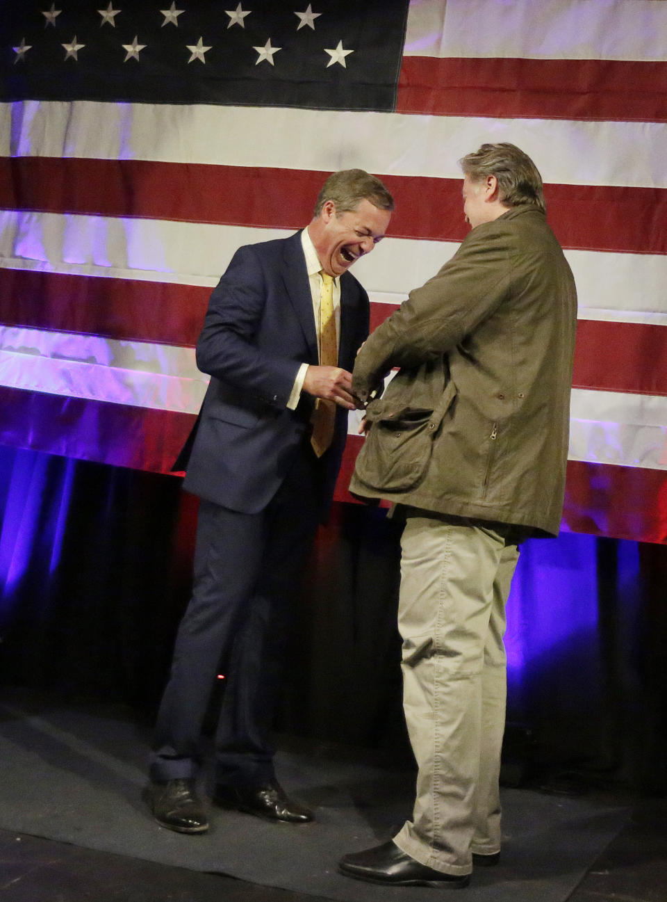
[(395, 106), (407, 0), (103, 3), (0, 3), (0, 99)]

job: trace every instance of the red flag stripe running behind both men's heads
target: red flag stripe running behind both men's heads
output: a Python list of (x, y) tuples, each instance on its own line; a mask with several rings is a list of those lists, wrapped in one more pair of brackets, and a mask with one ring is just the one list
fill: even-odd
[[(301, 228), (328, 173), (141, 160), (0, 159), (0, 207), (226, 226)], [(460, 242), (461, 179), (382, 176), (396, 199), (389, 235)], [(667, 189), (547, 185), (563, 247), (667, 253)]]

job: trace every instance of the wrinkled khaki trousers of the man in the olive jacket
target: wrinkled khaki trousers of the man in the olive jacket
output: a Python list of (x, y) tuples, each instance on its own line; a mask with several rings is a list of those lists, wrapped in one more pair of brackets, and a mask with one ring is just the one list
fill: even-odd
[(394, 842), (462, 875), (472, 851), (500, 849), (503, 634), (518, 548), (512, 527), (418, 513), (408, 509), (401, 539), (398, 605), (416, 802)]

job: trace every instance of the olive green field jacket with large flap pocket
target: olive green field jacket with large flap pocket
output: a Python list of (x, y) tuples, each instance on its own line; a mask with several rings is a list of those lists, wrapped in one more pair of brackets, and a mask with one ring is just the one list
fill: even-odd
[(362, 346), (352, 388), (370, 431), (350, 491), (557, 535), (577, 298), (544, 213), (473, 228)]

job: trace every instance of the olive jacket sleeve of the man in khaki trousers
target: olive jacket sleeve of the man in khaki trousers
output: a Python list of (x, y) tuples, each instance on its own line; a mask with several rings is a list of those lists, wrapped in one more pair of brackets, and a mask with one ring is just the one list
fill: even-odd
[(353, 390), (368, 400), (392, 367), (416, 367), (451, 351), (498, 308), (511, 280), (507, 230), (478, 226), (452, 260), (375, 329), (354, 364)]

